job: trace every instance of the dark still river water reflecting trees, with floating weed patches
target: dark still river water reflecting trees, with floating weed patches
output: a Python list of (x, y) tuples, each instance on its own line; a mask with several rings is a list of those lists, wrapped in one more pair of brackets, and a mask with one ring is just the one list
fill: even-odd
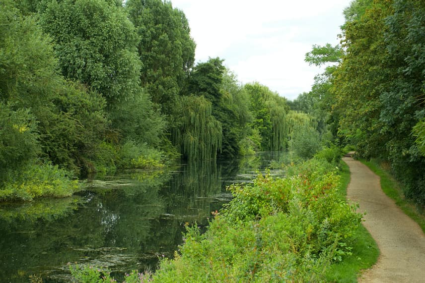
[[(70, 282), (67, 263), (103, 266), (122, 278), (172, 258), (186, 223), (208, 226), (231, 200), (226, 186), (249, 182), (278, 154), (88, 179), (65, 199), (0, 204), (0, 282)], [(280, 175), (281, 171), (272, 171)]]

